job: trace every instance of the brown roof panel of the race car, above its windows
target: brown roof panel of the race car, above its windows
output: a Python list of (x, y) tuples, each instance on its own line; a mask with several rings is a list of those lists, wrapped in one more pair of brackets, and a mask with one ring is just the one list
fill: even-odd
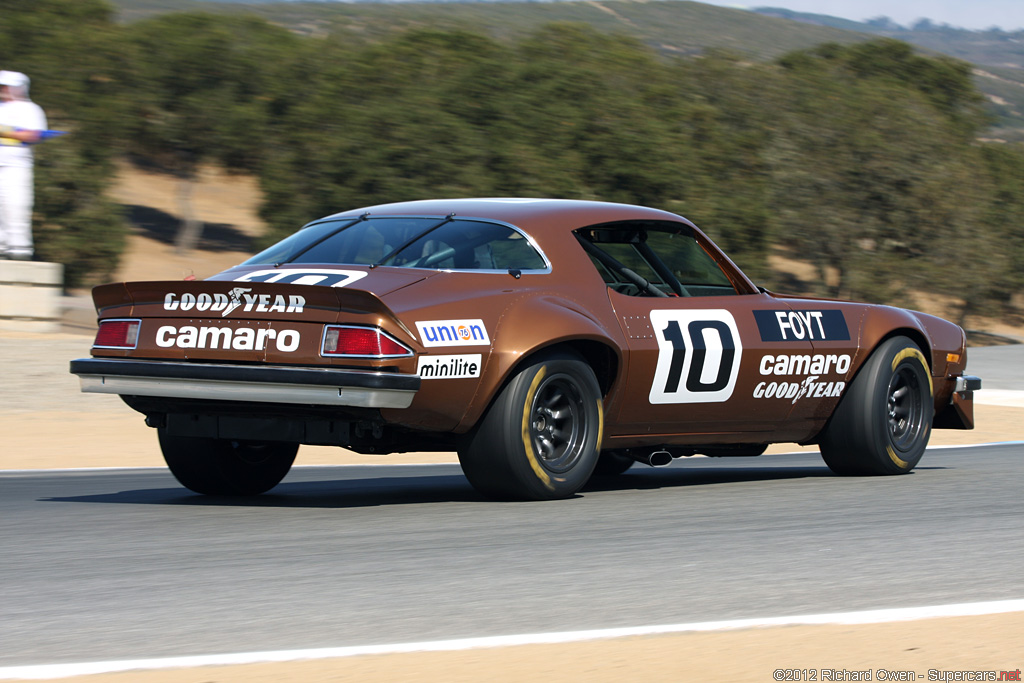
[[(692, 226), (688, 220), (668, 211), (586, 200), (524, 199), (524, 198), (480, 198), (480, 199), (439, 199), (380, 204), (343, 211), (327, 218), (351, 217), (370, 213), (372, 216), (438, 216), (450, 214), (463, 218), (487, 218), (522, 227), (523, 229), (548, 228), (561, 225), (566, 230), (587, 225), (618, 220), (664, 220), (682, 222)], [(322, 219), (323, 220), (323, 219)]]

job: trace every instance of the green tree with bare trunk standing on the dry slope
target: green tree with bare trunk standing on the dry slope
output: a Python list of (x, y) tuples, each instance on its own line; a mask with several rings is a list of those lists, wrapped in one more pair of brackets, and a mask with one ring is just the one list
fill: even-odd
[(187, 251), (203, 227), (191, 209), (197, 171), (207, 162), (259, 170), (298, 38), (262, 19), (204, 13), (140, 22), (127, 37), (135, 93), (128, 150), (180, 179), (175, 243)]

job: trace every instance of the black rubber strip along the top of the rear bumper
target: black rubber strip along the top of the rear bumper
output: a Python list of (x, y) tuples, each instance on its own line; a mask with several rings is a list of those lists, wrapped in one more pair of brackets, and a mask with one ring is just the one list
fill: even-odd
[(318, 386), (357, 387), (360, 389), (394, 389), (417, 391), (417, 375), (378, 373), (366, 370), (332, 370), (328, 368), (289, 368), (284, 366), (223, 366), (165, 360), (114, 360), (78, 358), (71, 361), (73, 375), (103, 375), (106, 377), (155, 377), (178, 380), (212, 380), (221, 382), (255, 382), (260, 384), (304, 384)]

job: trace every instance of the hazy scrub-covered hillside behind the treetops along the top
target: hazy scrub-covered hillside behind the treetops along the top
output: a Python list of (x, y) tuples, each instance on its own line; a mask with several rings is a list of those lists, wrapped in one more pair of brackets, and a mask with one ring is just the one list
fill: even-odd
[(762, 7), (756, 11), (688, 2), (262, 2), (260, 0), (114, 0), (123, 22), (172, 11), (245, 12), (304, 35), (347, 41), (380, 38), (429, 26), (516, 39), (553, 22), (579, 22), (624, 34), (666, 54), (724, 49), (768, 60), (825, 42), (896, 38), (926, 52), (978, 65), (977, 85), (989, 102), (990, 137), (1024, 140), (1024, 37), (923, 24), (858, 23), (822, 14)]

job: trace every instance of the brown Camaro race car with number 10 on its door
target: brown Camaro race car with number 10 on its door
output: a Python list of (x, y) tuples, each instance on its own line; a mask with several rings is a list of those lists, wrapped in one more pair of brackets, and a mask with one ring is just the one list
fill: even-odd
[(973, 427), (981, 386), (951, 323), (767, 292), (686, 219), (600, 202), (346, 211), (209, 280), (93, 297), (82, 390), (144, 414), (209, 495), (271, 488), (301, 443), (457, 451), (494, 498), (779, 441), (899, 474), (933, 427)]

